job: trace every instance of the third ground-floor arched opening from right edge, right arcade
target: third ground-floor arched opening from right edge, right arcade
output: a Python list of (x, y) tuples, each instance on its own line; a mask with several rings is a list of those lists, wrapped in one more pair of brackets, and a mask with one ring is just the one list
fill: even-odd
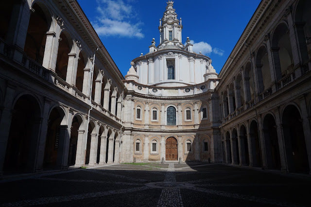
[(262, 167), (258, 125), (255, 120), (251, 122), (249, 127), (249, 139), (251, 144), (253, 167)]

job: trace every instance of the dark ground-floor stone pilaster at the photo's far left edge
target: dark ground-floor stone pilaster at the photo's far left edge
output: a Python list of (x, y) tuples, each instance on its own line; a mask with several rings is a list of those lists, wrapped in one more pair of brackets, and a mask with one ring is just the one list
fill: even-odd
[(2, 174), (3, 171), (3, 163), (10, 133), (13, 101), (15, 98), (15, 89), (16, 86), (8, 83), (3, 101), (3, 109), (0, 120), (0, 175)]

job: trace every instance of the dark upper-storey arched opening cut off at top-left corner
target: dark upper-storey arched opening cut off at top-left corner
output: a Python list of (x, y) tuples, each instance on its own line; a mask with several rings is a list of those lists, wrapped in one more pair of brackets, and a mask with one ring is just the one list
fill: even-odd
[(15, 2), (4, 1), (0, 7), (0, 38), (6, 39)]

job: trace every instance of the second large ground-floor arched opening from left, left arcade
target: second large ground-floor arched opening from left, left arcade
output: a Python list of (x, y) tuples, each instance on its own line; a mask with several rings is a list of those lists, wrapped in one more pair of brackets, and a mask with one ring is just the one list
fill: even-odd
[(43, 159), (44, 168), (53, 168), (57, 165), (57, 152), (60, 149), (58, 148), (58, 143), (60, 141), (59, 139), (61, 138), (59, 136), (60, 124), (64, 116), (64, 111), (59, 107), (53, 108), (50, 113)]

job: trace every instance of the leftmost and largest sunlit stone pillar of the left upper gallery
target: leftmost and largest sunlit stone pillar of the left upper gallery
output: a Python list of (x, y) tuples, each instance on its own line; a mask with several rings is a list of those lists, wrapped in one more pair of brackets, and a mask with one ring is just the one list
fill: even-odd
[(55, 72), (56, 58), (59, 46), (60, 25), (55, 24), (55, 31), (47, 32), (42, 66)]

